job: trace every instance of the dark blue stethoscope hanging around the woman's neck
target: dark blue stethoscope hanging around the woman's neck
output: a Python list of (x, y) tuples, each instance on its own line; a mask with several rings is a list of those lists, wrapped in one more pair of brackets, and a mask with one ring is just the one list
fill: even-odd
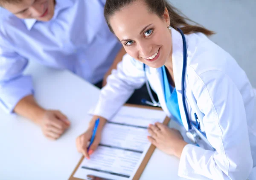
[[(196, 113), (195, 113), (195, 123), (191, 122), (189, 120), (189, 113), (188, 113), (187, 108), (186, 108), (185, 88), (184, 88), (185, 87), (184, 84), (185, 84), (186, 62), (187, 62), (186, 39), (185, 39), (185, 35), (182, 32), (182, 30), (179, 29), (179, 28), (177, 28), (177, 29), (180, 32), (180, 34), (182, 36), (182, 41), (183, 41), (183, 68), (182, 68), (182, 76), (181, 76), (181, 78), (182, 78), (181, 96), (182, 96), (182, 103), (183, 103), (184, 112), (185, 112), (185, 115), (186, 115), (186, 121), (187, 121), (187, 124), (188, 124), (188, 131), (186, 132), (186, 136), (189, 138), (189, 140), (191, 142), (193, 142), (195, 144), (198, 143), (199, 139), (203, 139), (204, 142), (206, 142), (208, 145), (210, 145), (209, 141), (207, 140), (206, 134), (200, 130), (200, 122), (198, 122), (198, 116), (196, 115)], [(143, 64), (143, 69), (144, 69), (144, 72), (145, 72), (145, 64)], [(147, 87), (147, 90), (148, 90), (148, 94), (149, 94), (149, 97), (150, 97), (152, 102), (147, 101), (145, 99), (142, 99), (141, 102), (144, 103), (144, 104), (147, 104), (147, 105), (154, 106), (154, 107), (161, 107), (160, 102), (157, 102), (154, 99), (154, 96), (152, 95), (151, 88), (150, 88), (150, 85), (148, 83), (146, 73), (145, 73), (145, 78), (146, 78), (146, 87)], [(212, 145), (210, 145), (210, 147), (212, 147)]]

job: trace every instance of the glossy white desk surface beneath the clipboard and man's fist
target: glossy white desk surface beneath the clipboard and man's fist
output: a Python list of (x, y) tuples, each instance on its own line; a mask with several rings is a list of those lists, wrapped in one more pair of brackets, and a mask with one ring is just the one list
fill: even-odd
[[(76, 137), (87, 129), (90, 107), (96, 105), (99, 89), (64, 70), (29, 64), (35, 98), (42, 107), (61, 110), (71, 121), (69, 130), (56, 141), (46, 139), (41, 129), (20, 116), (0, 109), (0, 179), (67, 180), (81, 158)], [(155, 150), (141, 180), (185, 180), (177, 176), (179, 160)]]

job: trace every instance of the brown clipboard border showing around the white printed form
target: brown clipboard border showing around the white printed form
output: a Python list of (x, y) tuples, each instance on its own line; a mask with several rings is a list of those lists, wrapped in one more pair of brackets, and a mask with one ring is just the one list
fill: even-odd
[[(156, 109), (156, 110), (162, 110), (161, 107), (151, 107), (151, 106), (143, 106), (143, 105), (131, 105), (131, 104), (125, 104), (125, 106), (129, 106), (129, 107), (140, 107), (140, 108), (145, 108), (145, 109)], [(168, 125), (170, 121), (170, 118), (168, 116), (166, 116), (166, 118), (163, 121), (164, 125)], [(143, 173), (148, 161), (150, 160), (154, 150), (155, 150), (155, 146), (151, 144), (151, 146), (148, 149), (148, 152), (146, 153), (143, 161), (140, 164), (140, 167), (138, 168), (137, 172), (134, 175), (133, 180), (139, 180), (141, 174)], [(75, 170), (72, 172), (69, 180), (84, 180), (84, 179), (80, 179), (80, 178), (76, 178), (74, 177), (74, 174), (76, 173), (77, 169), (79, 168), (80, 164), (82, 163), (82, 161), (84, 160), (84, 156), (81, 157), (81, 160), (79, 161), (79, 163), (76, 165)]]

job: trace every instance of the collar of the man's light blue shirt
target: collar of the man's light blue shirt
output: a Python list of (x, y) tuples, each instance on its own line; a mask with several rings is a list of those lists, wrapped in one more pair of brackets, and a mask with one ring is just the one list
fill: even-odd
[[(55, 15), (52, 17), (52, 19), (54, 19), (57, 16), (60, 10), (68, 8), (74, 4), (74, 0), (55, 0), (55, 1), (56, 1), (55, 10), (54, 10)], [(28, 30), (32, 29), (36, 21), (37, 21), (36, 19), (24, 19), (24, 23)]]

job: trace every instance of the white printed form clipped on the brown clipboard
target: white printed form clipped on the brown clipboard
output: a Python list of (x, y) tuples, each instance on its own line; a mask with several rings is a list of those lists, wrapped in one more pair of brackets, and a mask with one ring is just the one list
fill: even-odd
[(150, 142), (148, 125), (163, 122), (162, 110), (122, 107), (103, 131), (101, 142), (90, 160), (84, 158), (74, 177), (87, 179), (91, 174), (110, 180), (132, 180)]

